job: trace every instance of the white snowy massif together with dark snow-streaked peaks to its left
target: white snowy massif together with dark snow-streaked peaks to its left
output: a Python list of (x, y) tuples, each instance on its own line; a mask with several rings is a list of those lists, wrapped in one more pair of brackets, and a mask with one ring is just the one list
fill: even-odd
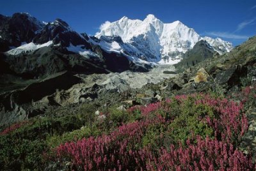
[[(0, 15), (0, 52), (6, 55), (30, 56), (52, 50), (79, 55), (95, 63), (100, 61), (108, 70), (115, 68), (113, 71), (148, 68), (152, 62), (178, 63), (200, 40), (207, 41), (220, 54), (232, 49), (227, 41), (202, 38), (182, 22), (164, 24), (154, 15), (143, 21), (122, 17), (116, 22), (106, 22), (95, 36), (79, 34), (61, 19), (40, 22), (28, 13)], [(114, 66), (117, 64), (120, 66)]]

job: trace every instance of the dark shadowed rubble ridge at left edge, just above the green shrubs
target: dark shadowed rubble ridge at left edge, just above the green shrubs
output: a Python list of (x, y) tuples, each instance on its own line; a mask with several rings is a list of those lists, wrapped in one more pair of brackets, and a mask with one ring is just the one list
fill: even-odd
[[(30, 84), (24, 89), (1, 94), (0, 125), (44, 113), (48, 105), (58, 105), (52, 100), (51, 94), (56, 93), (58, 89), (69, 89), (79, 82), (81, 82), (81, 78), (66, 71), (51, 75), (51, 77)], [(43, 98), (46, 101), (38, 105), (33, 104), (33, 101), (42, 100)]]

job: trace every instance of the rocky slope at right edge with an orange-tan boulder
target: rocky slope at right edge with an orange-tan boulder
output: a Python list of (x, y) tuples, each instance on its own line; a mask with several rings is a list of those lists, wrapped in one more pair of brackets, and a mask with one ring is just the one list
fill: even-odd
[[(250, 85), (256, 77), (256, 37), (250, 38), (242, 45), (223, 56), (214, 56), (180, 73), (186, 84), (180, 93), (192, 93), (212, 89), (219, 93), (232, 94), (241, 87)], [(204, 68), (205, 71), (200, 71)], [(202, 81), (196, 77), (202, 76)], [(207, 77), (204, 81), (204, 77)], [(178, 83), (178, 82), (177, 82)]]

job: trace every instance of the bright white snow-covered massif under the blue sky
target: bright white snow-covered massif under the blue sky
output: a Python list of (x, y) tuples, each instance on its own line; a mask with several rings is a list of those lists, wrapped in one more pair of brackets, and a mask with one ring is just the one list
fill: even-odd
[(184, 53), (200, 40), (206, 40), (220, 54), (233, 48), (231, 43), (220, 38), (201, 37), (180, 21), (164, 24), (151, 14), (144, 20), (122, 17), (115, 22), (105, 22), (95, 36), (101, 41), (104, 41), (102, 36), (120, 36), (123, 43), (112, 42), (115, 47), (118, 44), (120, 52), (125, 51), (132, 56), (158, 63), (179, 62)]

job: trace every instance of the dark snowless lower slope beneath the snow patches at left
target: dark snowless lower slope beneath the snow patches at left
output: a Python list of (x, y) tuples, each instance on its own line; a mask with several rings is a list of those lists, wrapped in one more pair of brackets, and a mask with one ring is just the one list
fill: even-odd
[(65, 48), (55, 50), (44, 47), (32, 54), (4, 56), (3, 60), (1, 65), (6, 68), (3, 73), (12, 71), (23, 78), (45, 77), (60, 71), (86, 74), (108, 72), (103, 68), (104, 63), (99, 60), (86, 59), (78, 54), (68, 53)]

